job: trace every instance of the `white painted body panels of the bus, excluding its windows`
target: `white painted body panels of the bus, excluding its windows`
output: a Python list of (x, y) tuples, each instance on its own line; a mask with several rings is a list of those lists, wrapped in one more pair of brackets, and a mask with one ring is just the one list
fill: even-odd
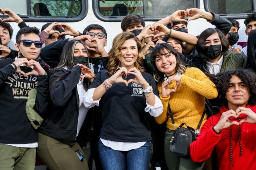
[[(17, 0), (18, 1), (18, 0)], [(14, 10), (14, 8), (18, 8), (20, 7), (19, 5), (22, 5), (22, 1), (23, 3), (26, 0), (19, 0), (17, 3), (17, 6), (15, 5), (15, 7), (13, 7), (14, 4), (8, 4), (8, 2), (4, 2), (3, 6), (0, 6), (1, 8), (5, 8), (8, 7), (12, 10)], [(6, 4), (5, 4), (6, 3)], [(1, 4), (2, 5), (2, 4)], [(200, 0), (200, 9), (204, 9), (204, 0)], [(15, 10), (14, 10), (15, 11)], [(55, 20), (52, 20), (52, 22), (54, 22)], [(245, 34), (245, 24), (244, 24), (244, 19), (237, 19), (237, 21), (240, 23), (240, 29), (238, 31), (239, 34), (239, 40), (238, 42), (247, 42), (247, 38), (248, 36)], [(147, 24), (153, 24), (155, 21), (146, 21), (146, 25)], [(41, 29), (41, 27), (48, 22), (26, 22), (26, 24), (30, 27), (37, 27), (39, 29)], [(119, 34), (120, 32), (122, 32), (121, 30), (121, 22), (103, 22), (101, 20), (99, 20), (95, 15), (94, 15), (94, 9), (93, 9), (93, 5), (92, 5), (92, 1), (89, 0), (88, 1), (88, 13), (86, 15), (85, 18), (83, 18), (81, 21), (79, 22), (68, 22), (68, 24), (70, 26), (72, 26), (73, 28), (75, 28), (76, 30), (78, 30), (79, 32), (83, 32), (84, 28), (90, 24), (99, 24), (101, 26), (103, 26), (107, 33), (108, 33), (108, 38), (107, 38), (107, 46), (105, 47), (106, 51), (109, 51), (112, 47), (112, 40), (114, 39), (114, 37)], [(15, 44), (15, 35), (16, 33), (19, 31), (19, 27), (17, 23), (11, 23), (12, 28), (14, 28), (14, 36), (11, 39), (11, 42), (9, 43), (9, 47), (14, 48), (14, 44)], [(208, 23), (205, 19), (197, 19), (197, 20), (193, 20), (190, 21), (188, 23), (188, 33), (192, 34), (192, 35), (200, 35), (200, 33), (202, 31), (204, 31), (207, 28), (215, 28), (215, 26), (213, 26), (212, 24)], [(68, 36), (66, 36), (66, 38), (68, 38)]]

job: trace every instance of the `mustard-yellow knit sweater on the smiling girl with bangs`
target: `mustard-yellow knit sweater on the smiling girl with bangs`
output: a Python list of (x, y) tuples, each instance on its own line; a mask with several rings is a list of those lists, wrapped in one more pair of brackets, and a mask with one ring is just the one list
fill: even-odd
[[(186, 123), (189, 127), (196, 129), (204, 111), (205, 97), (216, 98), (218, 96), (217, 89), (214, 83), (195, 67), (188, 67), (180, 82), (177, 92), (172, 92), (170, 96), (166, 97), (161, 95), (162, 82), (158, 83), (157, 88), (163, 103), (163, 112), (160, 116), (155, 117), (155, 120), (162, 124), (167, 119), (167, 128), (174, 130), (169, 111), (167, 111), (168, 103), (170, 103), (176, 128), (181, 123)], [(175, 86), (176, 81), (172, 81), (169, 88), (174, 89)], [(202, 125), (206, 122), (206, 118), (207, 115), (204, 116)]]

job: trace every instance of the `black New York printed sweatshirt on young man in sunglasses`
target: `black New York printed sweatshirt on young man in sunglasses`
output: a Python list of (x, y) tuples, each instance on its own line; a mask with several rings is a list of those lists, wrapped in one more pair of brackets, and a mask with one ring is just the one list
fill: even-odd
[[(47, 111), (48, 76), (24, 77), (15, 73), (10, 64), (14, 59), (0, 61), (0, 143), (26, 144), (37, 142), (37, 132), (26, 114), (29, 92), (37, 88), (35, 111), (43, 116)], [(20, 66), (25, 72), (31, 68)]]

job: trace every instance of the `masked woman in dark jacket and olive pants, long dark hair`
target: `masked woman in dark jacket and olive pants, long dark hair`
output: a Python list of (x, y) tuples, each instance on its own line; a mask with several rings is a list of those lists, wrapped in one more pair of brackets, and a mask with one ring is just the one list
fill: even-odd
[(88, 169), (84, 153), (76, 143), (89, 110), (83, 98), (95, 77), (84, 65), (89, 64), (87, 54), (81, 40), (69, 41), (59, 65), (49, 74), (49, 114), (39, 129), (37, 154), (51, 170)]

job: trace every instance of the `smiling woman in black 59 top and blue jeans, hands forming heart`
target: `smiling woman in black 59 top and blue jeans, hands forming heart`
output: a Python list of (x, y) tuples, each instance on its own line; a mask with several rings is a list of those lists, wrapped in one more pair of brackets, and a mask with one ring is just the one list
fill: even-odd
[(107, 70), (97, 74), (86, 92), (85, 106), (102, 108), (98, 144), (105, 170), (148, 169), (151, 131), (146, 116), (159, 116), (163, 106), (153, 77), (144, 72), (140, 49), (133, 33), (118, 34)]

